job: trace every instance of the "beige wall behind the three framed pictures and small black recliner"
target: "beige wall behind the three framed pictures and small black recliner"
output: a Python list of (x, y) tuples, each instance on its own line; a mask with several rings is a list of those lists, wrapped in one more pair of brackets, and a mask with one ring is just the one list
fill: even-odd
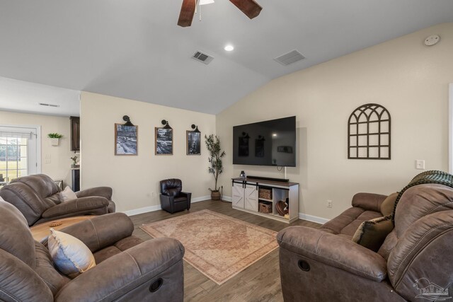
[[(138, 156), (115, 156), (115, 123), (128, 115), (138, 126)], [(173, 128), (173, 156), (154, 155), (154, 127), (168, 120)], [(183, 180), (183, 190), (193, 198), (206, 197), (214, 186), (207, 173), (207, 151), (187, 156), (185, 134), (196, 124), (202, 136), (215, 132), (215, 116), (161, 105), (81, 93), (82, 188), (113, 187), (117, 211), (158, 206), (159, 181)]]

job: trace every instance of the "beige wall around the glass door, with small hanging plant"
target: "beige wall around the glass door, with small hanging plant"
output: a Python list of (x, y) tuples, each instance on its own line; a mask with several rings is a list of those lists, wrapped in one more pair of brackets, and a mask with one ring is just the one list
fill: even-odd
[[(70, 151), (69, 117), (0, 111), (0, 124), (40, 126), (41, 173), (54, 180), (64, 180), (64, 185), (71, 186), (70, 168), (74, 152)], [(63, 134), (62, 139), (59, 139), (59, 146), (51, 146), (47, 139), (47, 134), (55, 132)]]

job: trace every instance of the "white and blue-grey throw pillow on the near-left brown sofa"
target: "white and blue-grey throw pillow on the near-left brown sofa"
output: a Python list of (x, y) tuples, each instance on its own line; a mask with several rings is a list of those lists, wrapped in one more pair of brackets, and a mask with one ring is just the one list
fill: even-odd
[(75, 278), (96, 266), (93, 253), (81, 240), (53, 228), (50, 232), (47, 245), (55, 267), (60, 272)]

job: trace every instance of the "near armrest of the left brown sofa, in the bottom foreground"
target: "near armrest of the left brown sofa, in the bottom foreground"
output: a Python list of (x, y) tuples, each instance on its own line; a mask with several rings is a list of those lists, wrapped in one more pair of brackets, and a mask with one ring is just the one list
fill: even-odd
[[(166, 296), (179, 294), (183, 291), (179, 288), (183, 287), (183, 255), (184, 247), (176, 239), (145, 241), (80, 274), (57, 293), (55, 301), (151, 301), (159, 291)], [(151, 293), (149, 286), (159, 277), (161, 289)], [(146, 291), (147, 296), (137, 291)]]

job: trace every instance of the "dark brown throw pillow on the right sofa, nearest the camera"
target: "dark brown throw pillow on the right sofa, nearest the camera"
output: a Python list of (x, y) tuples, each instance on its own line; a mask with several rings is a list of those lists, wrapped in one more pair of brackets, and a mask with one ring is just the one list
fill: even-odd
[(363, 221), (352, 236), (352, 241), (377, 252), (393, 229), (391, 215)]

